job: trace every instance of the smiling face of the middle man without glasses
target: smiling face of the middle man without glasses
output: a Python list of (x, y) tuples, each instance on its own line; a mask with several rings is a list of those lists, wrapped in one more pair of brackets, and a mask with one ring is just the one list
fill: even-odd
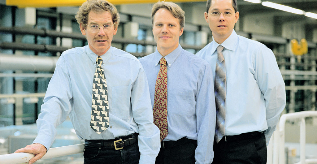
[[(153, 17), (153, 36), (156, 41), (158, 51), (171, 53), (178, 47), (179, 36), (183, 34), (180, 28), (179, 19), (175, 18), (171, 11), (159, 9)], [(161, 53), (161, 55), (163, 55)]]

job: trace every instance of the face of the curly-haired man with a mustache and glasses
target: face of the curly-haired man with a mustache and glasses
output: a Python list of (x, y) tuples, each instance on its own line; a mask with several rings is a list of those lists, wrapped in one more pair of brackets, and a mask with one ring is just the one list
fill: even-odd
[[(86, 35), (89, 48), (97, 55), (105, 54), (111, 46), (113, 35), (116, 35), (118, 28), (113, 25), (110, 12), (103, 11), (95, 13), (90, 11), (88, 14), (87, 25), (99, 25), (100, 29), (97, 32), (92, 32), (89, 26), (86, 29), (80, 25), (81, 34)], [(110, 28), (103, 28), (104, 25), (110, 25)]]

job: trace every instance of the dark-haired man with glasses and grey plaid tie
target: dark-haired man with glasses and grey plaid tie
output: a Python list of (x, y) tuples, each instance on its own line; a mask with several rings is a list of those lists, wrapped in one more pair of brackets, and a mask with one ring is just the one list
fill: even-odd
[(236, 0), (208, 0), (205, 20), (213, 41), (196, 55), (207, 60), (215, 79), (217, 47), (224, 47), (225, 132), (214, 142), (213, 163), (266, 164), (266, 145), (286, 104), (285, 84), (273, 52), (239, 36)]

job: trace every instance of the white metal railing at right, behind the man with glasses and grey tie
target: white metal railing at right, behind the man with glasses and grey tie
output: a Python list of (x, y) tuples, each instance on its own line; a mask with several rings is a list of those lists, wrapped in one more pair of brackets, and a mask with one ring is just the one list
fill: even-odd
[[(277, 130), (273, 134), (273, 143), (268, 145), (273, 156), (268, 157), (268, 164), (285, 164), (285, 123), (286, 120), (300, 119), (300, 161), (296, 164), (317, 164), (316, 159), (306, 159), (305, 144), (306, 144), (306, 117), (317, 117), (317, 111), (301, 111), (295, 113), (283, 114), (280, 118)], [(271, 141), (272, 142), (272, 141)], [(270, 155), (270, 154), (269, 154)]]

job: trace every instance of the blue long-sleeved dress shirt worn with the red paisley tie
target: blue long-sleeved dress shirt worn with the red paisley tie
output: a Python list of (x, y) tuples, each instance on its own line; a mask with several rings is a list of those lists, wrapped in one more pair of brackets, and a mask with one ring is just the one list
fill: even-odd
[[(156, 50), (139, 59), (149, 82), (152, 107), (161, 58)], [(165, 60), (168, 134), (163, 141), (177, 141), (183, 137), (197, 140), (196, 163), (211, 163), (216, 120), (211, 68), (208, 62), (180, 45), (166, 55)]]

